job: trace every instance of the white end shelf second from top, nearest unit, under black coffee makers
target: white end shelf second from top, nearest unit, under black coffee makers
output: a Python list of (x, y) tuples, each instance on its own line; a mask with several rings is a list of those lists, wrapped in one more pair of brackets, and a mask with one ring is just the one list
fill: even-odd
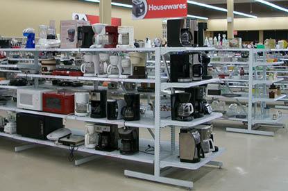
[(198, 85), (205, 85), (208, 83), (217, 83), (219, 78), (212, 78), (210, 80), (194, 81), (189, 83), (161, 83), (161, 90), (166, 90), (168, 88), (191, 88)]

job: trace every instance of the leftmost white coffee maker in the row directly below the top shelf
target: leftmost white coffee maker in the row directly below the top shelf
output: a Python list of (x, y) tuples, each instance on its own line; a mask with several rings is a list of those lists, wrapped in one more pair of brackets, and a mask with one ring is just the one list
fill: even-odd
[(99, 62), (99, 54), (85, 54), (84, 63), (81, 65), (81, 72), (87, 77), (97, 76), (99, 74)]

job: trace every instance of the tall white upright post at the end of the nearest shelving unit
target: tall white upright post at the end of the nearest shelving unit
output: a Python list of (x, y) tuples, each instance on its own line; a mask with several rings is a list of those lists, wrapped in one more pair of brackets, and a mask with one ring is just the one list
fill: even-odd
[(155, 48), (155, 151), (154, 151), (154, 175), (160, 177), (160, 101), (161, 101), (161, 48)]

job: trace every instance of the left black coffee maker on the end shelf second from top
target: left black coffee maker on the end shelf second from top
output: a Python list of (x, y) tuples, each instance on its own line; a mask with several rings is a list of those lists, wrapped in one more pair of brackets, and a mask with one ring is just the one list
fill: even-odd
[(170, 56), (170, 81), (192, 82), (190, 67), (191, 55), (172, 54)]

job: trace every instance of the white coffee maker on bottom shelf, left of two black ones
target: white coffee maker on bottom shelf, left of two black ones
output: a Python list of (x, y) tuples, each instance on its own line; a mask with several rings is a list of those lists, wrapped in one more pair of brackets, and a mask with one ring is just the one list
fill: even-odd
[(85, 128), (85, 147), (87, 149), (94, 149), (98, 142), (95, 124), (86, 122)]

